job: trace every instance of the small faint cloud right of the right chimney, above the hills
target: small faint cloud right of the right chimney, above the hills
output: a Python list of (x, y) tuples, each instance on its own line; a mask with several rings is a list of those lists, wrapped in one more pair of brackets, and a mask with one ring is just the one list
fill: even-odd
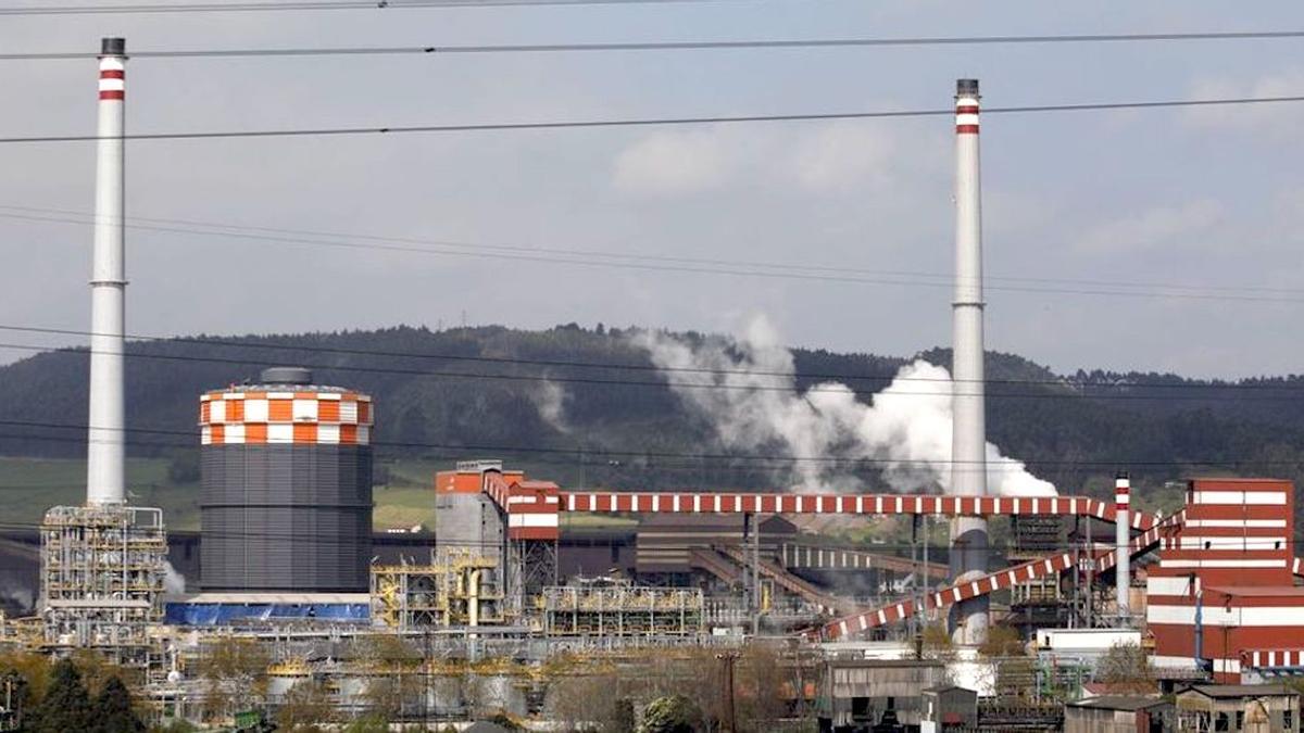
[(1222, 205), (1208, 198), (1178, 206), (1157, 206), (1089, 230), (1077, 241), (1076, 249), (1093, 254), (1136, 253), (1174, 243), (1198, 249), (1211, 240), (1210, 230), (1223, 218)]

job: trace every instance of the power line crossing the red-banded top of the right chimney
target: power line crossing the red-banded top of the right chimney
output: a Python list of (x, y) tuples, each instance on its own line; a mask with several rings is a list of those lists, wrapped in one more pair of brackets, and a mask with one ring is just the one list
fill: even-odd
[[(1235, 97), (1213, 99), (1166, 99), (1154, 102), (1091, 102), (1082, 104), (1030, 104), (1021, 107), (985, 107), (985, 115), (1022, 115), (1033, 112), (1088, 112), (1106, 110), (1159, 110), (1181, 107), (1226, 107), (1241, 104), (1277, 104), (1304, 102), (1304, 95), (1292, 97)], [(953, 115), (955, 110), (880, 110), (870, 112), (812, 112), (793, 115), (737, 115), (737, 116), (685, 116), (685, 117), (644, 117), (625, 120), (565, 120), (539, 123), (469, 123), (442, 125), (393, 125), (393, 127), (351, 127), (351, 128), (286, 128), (261, 130), (205, 130), (205, 132), (162, 132), (132, 133), (113, 140), (230, 140), (230, 138), (287, 138), (287, 137), (330, 137), (364, 134), (404, 134), (404, 133), (455, 133), (455, 132), (509, 132), (509, 130), (549, 130), (549, 129), (595, 129), (595, 128), (634, 128), (662, 125), (702, 125), (739, 123), (790, 123), (819, 120), (867, 120), (936, 117)], [(86, 142), (98, 141), (94, 134), (51, 134), (29, 137), (0, 137), (0, 143), (30, 142)]]

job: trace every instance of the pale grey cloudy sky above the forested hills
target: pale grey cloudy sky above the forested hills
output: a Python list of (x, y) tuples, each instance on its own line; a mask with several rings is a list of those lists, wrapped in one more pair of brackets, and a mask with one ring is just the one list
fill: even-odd
[[(7, 17), (0, 50), (94, 51), (102, 35), (176, 50), (1304, 29), (1299, 3), (1254, 8), (1251, 17), (1192, 1), (1003, 3), (979, 12), (725, 0)], [(981, 78), (994, 107), (1295, 95), (1304, 94), (1304, 48), (1296, 39), (137, 59), (128, 125), (143, 133), (939, 108), (952, 103), (957, 77)], [(0, 137), (93, 134), (95, 81), (91, 60), (0, 61)], [(1304, 104), (987, 116), (988, 347), (1059, 370), (1304, 370), (1301, 112)], [(949, 342), (951, 145), (944, 116), (130, 142), (129, 217), (155, 228), (128, 235), (129, 331), (436, 327), (460, 323), (463, 313), (473, 325), (732, 330), (764, 313), (793, 344), (910, 355)], [(91, 206), (93, 154), (87, 142), (0, 146), (4, 325), (86, 327), (90, 232), (70, 222)], [(323, 233), (257, 239), (252, 227)], [(441, 243), (473, 256), (449, 254)], [(758, 263), (802, 277), (737, 274)], [(717, 271), (691, 271), (702, 269)]]

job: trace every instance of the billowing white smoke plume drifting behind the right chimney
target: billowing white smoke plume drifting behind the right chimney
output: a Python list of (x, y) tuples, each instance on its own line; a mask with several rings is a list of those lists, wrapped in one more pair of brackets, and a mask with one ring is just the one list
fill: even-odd
[[(792, 352), (764, 318), (739, 338), (689, 343), (661, 333), (632, 337), (672, 390), (711, 421), (729, 449), (772, 454), (790, 466), (799, 490), (849, 490), (862, 481), (855, 462), (874, 462), (900, 492), (951, 484), (951, 374), (915, 360), (887, 387), (861, 402), (838, 382), (797, 390)], [(845, 459), (845, 460), (840, 460)], [(1055, 488), (987, 443), (987, 490), (1000, 496), (1052, 496)]]

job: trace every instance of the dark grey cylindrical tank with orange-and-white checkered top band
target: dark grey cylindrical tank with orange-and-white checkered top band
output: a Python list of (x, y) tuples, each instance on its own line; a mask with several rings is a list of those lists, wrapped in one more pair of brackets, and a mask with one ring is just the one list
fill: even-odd
[(275, 368), (200, 398), (205, 591), (366, 592), (372, 398)]

